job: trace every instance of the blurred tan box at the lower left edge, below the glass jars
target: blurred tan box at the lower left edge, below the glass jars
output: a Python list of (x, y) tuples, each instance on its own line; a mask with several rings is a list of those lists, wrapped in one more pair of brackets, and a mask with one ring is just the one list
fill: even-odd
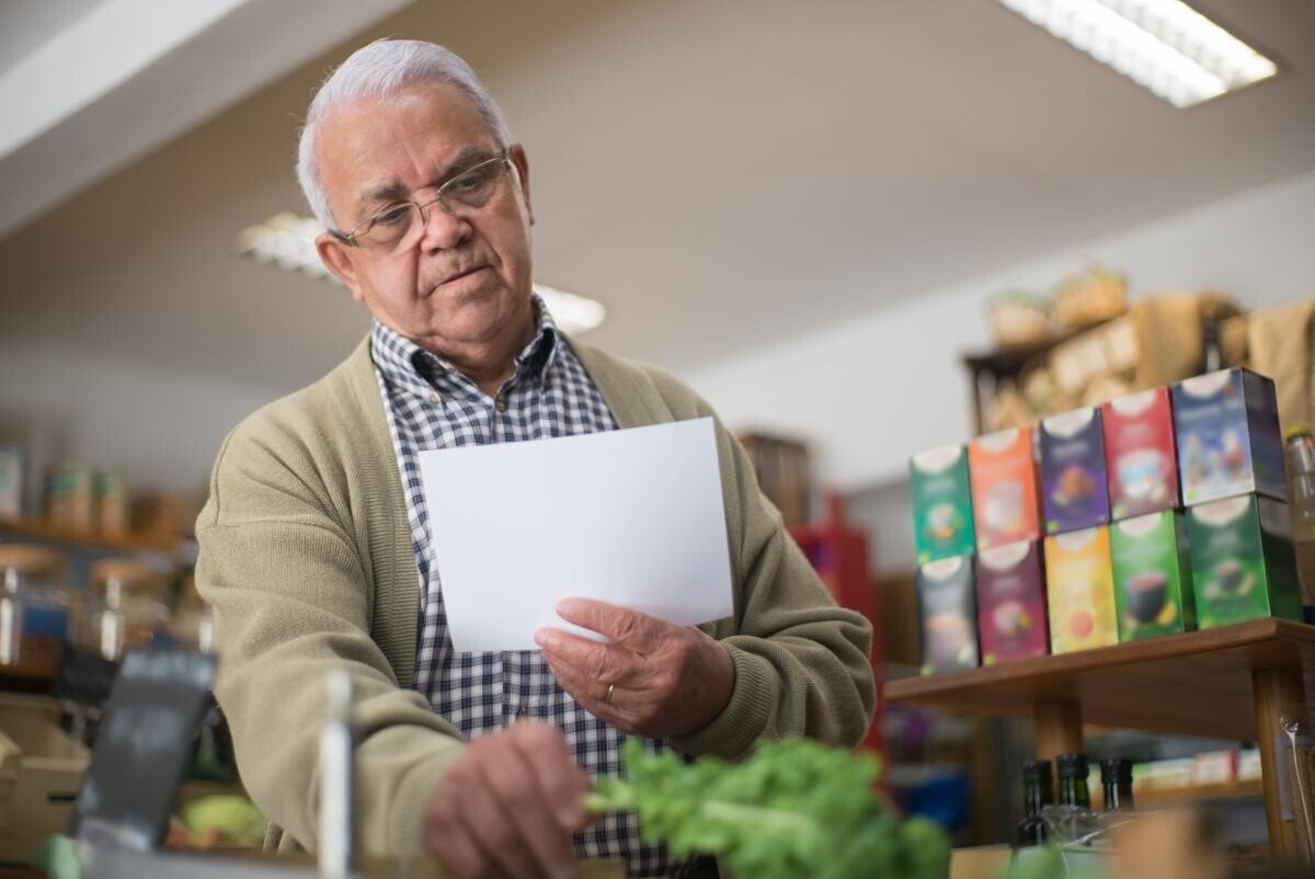
[(91, 761), (59, 728), (59, 704), (0, 695), (0, 862), (29, 863), (51, 833), (67, 833)]

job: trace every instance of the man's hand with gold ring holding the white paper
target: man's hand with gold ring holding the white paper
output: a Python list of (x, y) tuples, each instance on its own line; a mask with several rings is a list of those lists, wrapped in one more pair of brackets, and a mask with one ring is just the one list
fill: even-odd
[(558, 613), (613, 640), (598, 643), (551, 628), (534, 634), (562, 688), (617, 729), (684, 736), (730, 701), (731, 654), (698, 629), (588, 599), (567, 599)]

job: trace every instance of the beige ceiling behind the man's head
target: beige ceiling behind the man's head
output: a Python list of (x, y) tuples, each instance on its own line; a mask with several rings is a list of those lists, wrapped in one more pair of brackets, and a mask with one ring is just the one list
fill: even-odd
[(608, 305), (592, 341), (692, 370), (1315, 168), (1315, 5), (1197, 5), (1282, 75), (1178, 111), (993, 0), (414, 4), (0, 239), (0, 343), (322, 374), (364, 313), (233, 238), (301, 208), (325, 68), (405, 36), (466, 55), (526, 145), (537, 279)]

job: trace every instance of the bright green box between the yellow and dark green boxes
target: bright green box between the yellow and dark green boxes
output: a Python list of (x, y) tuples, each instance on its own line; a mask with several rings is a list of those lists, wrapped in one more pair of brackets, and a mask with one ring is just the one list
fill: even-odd
[(1197, 628), (1182, 513), (1166, 509), (1115, 522), (1110, 554), (1120, 643)]

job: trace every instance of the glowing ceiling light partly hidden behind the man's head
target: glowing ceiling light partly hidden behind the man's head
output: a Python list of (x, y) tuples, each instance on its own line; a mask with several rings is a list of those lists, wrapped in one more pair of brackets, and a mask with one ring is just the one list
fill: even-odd
[[(237, 250), (259, 262), (274, 263), (279, 268), (342, 284), (320, 261), (316, 236), (321, 232), (323, 226), (317, 220), (283, 212), (239, 232)], [(547, 284), (535, 284), (534, 289), (543, 297), (552, 320), (567, 333), (588, 333), (608, 316), (602, 303), (579, 293), (568, 293)]]

